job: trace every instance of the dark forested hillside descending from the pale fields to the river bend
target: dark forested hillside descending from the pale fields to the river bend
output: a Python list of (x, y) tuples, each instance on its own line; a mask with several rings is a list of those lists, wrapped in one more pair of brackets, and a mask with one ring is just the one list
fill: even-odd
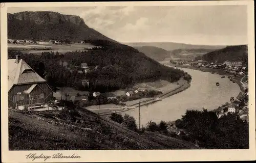
[[(94, 43), (104, 48), (65, 54), (42, 52), (41, 55), (9, 50), (8, 58), (15, 58), (18, 54), (20, 59), (27, 62), (39, 75), (45, 77), (53, 87), (85, 89), (81, 86), (81, 79), (87, 78), (90, 80), (90, 88), (86, 89), (104, 92), (156, 79), (176, 82), (184, 75), (188, 76), (186, 79), (190, 79), (190, 76), (183, 71), (163, 66), (130, 46), (111, 41)], [(68, 62), (69, 66), (59, 65), (60, 60)], [(98, 66), (98, 68), (87, 74), (78, 73), (79, 68), (70, 71), (74, 66), (80, 67), (81, 63)]]

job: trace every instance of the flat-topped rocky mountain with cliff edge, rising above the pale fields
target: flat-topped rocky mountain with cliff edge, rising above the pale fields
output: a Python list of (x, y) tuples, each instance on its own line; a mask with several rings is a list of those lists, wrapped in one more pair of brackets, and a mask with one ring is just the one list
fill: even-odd
[(114, 41), (89, 28), (79, 16), (50, 11), (8, 13), (8, 38), (37, 41), (69, 39), (72, 42), (85, 39)]

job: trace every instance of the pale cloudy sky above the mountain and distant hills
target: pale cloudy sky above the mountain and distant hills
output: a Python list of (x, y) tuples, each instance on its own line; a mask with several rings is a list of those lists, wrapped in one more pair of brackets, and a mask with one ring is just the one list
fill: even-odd
[(247, 44), (246, 6), (97, 6), (8, 8), (80, 16), (118, 42), (178, 42), (198, 45)]

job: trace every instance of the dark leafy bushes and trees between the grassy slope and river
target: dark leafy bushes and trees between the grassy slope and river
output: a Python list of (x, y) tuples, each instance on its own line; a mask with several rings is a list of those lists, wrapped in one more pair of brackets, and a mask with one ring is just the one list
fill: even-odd
[[(110, 118), (132, 130), (137, 130), (133, 117), (128, 115), (122, 117), (120, 114), (113, 113)], [(206, 149), (249, 148), (248, 123), (243, 122), (236, 114), (225, 115), (218, 119), (214, 112), (191, 110), (187, 111), (175, 124), (176, 132), (168, 130), (167, 122), (161, 121), (156, 124), (150, 121), (146, 127), (142, 127), (142, 132), (151, 131), (169, 137), (179, 137)]]

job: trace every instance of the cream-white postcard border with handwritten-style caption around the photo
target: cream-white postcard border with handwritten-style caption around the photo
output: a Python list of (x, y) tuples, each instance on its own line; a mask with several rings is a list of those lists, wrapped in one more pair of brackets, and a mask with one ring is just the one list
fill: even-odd
[[(7, 105), (7, 8), (8, 7), (86, 7), (86, 6), (209, 6), (247, 5), (249, 53), (249, 142), (244, 150), (79, 150), (79, 151), (9, 151)], [(1, 97), (2, 97), (2, 161), (43, 162), (26, 159), (28, 153), (64, 155), (76, 153), (80, 159), (48, 159), (45, 162), (101, 162), (101, 161), (201, 161), (201, 160), (255, 160), (255, 80), (254, 80), (254, 2), (253, 1), (194, 1), (194, 2), (88, 2), (88, 3), (5, 3), (1, 8)]]

